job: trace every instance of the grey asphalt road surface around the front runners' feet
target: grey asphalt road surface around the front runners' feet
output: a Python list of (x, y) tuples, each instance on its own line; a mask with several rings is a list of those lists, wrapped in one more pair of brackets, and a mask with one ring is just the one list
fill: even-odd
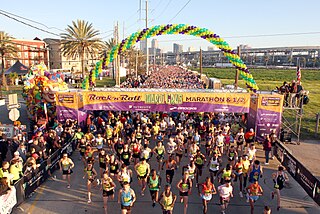
[[(258, 150), (259, 159), (262, 158), (262, 151)], [(82, 179), (83, 176), (83, 163), (79, 160), (79, 153), (75, 152), (72, 156), (75, 162), (74, 173), (72, 174), (71, 189), (66, 188), (66, 182), (62, 180), (61, 173), (56, 171), (54, 175), (57, 176), (56, 181), (48, 180), (36, 193), (27, 199), (18, 208), (13, 210), (14, 214), (20, 213), (103, 213), (103, 201), (102, 191), (99, 188), (93, 188), (92, 190), (92, 203), (87, 204), (87, 192), (86, 181)], [(186, 158), (183, 158), (182, 165), (187, 164)], [(150, 161), (151, 167), (156, 168), (156, 161), (153, 157)], [(224, 166), (226, 162), (224, 161)], [(297, 182), (289, 176), (289, 185), (282, 190), (282, 208), (279, 212), (276, 211), (276, 199), (271, 200), (271, 191), (273, 182), (271, 179), (271, 173), (277, 168), (279, 162), (271, 160), (270, 165), (264, 167), (264, 177), (260, 180), (260, 185), (264, 190), (264, 195), (255, 204), (255, 213), (262, 213), (263, 207), (268, 205), (272, 208), (273, 213), (320, 213), (320, 208), (314, 201), (307, 195), (307, 193), (299, 186)], [(132, 168), (132, 165), (130, 166)], [(96, 166), (96, 169), (97, 166)], [(99, 172), (97, 170), (97, 172)], [(208, 176), (208, 168), (204, 168), (204, 174), (200, 181), (204, 181)], [(134, 173), (135, 177), (135, 173)], [(161, 177), (165, 177), (165, 172), (161, 172)], [(175, 187), (178, 180), (181, 178), (181, 169), (175, 173), (173, 179), (173, 192), (178, 195), (178, 190)], [(117, 184), (117, 192), (119, 190), (119, 184)], [(217, 182), (215, 186), (217, 187)], [(163, 186), (163, 185), (162, 185)], [(137, 201), (133, 207), (132, 213), (140, 214), (155, 214), (161, 213), (161, 208), (157, 204), (154, 208), (151, 206), (152, 202), (150, 194), (146, 191), (146, 194), (140, 196), (139, 186), (135, 177), (131, 187), (137, 194)], [(202, 213), (202, 202), (195, 187), (192, 189), (192, 195), (189, 196), (189, 208), (188, 213)], [(249, 203), (245, 198), (239, 196), (238, 183), (234, 187), (234, 198), (231, 199), (230, 206), (227, 213), (250, 213)], [(217, 195), (213, 197), (208, 206), (208, 213), (220, 213), (219, 198)], [(108, 202), (109, 213), (120, 213), (120, 205), (116, 202), (116, 199)], [(174, 213), (183, 213), (183, 204), (177, 201), (174, 207)]]

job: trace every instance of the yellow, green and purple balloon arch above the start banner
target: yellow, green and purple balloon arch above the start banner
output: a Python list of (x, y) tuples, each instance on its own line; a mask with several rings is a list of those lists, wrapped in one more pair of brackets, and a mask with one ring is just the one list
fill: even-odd
[(243, 63), (243, 61), (235, 53), (235, 51), (232, 50), (232, 48), (226, 41), (224, 41), (219, 35), (213, 33), (212, 31), (209, 31), (206, 28), (200, 28), (186, 24), (156, 25), (131, 34), (129, 37), (122, 40), (121, 43), (115, 45), (112, 50), (107, 53), (105, 58), (96, 63), (96, 66), (90, 72), (89, 77), (86, 77), (86, 79), (83, 81), (82, 88), (88, 89), (89, 86), (95, 82), (96, 78), (98, 78), (102, 69), (105, 69), (109, 65), (109, 63), (111, 63), (118, 55), (135, 45), (137, 42), (145, 40), (146, 38), (169, 34), (184, 34), (196, 36), (214, 44), (223, 52), (224, 56), (227, 57), (228, 60), (240, 71), (240, 77), (244, 79), (247, 88), (253, 92), (259, 89), (247, 66)]

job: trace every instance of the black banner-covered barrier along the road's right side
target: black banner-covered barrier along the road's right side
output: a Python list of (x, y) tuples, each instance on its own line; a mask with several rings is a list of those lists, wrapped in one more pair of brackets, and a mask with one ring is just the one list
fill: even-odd
[(308, 195), (320, 205), (320, 181), (303, 166), (281, 142), (276, 143), (275, 156)]

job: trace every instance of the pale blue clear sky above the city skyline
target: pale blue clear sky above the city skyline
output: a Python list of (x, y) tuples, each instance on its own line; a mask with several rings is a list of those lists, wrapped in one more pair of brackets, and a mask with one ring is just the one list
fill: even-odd
[[(72, 20), (84, 19), (100, 30), (101, 37), (110, 38), (110, 30), (116, 21), (121, 28), (120, 38), (145, 26), (139, 21), (140, 0), (5, 0), (1, 10), (41, 22), (49, 27), (65, 29)], [(167, 24), (188, 0), (149, 0), (149, 26)], [(145, 0), (142, 0), (142, 18), (145, 16)], [(319, 34), (241, 37), (283, 33), (320, 32), (319, 0), (191, 0), (171, 23), (186, 23), (208, 28), (219, 34), (232, 46), (248, 44), (251, 47), (320, 45)], [(31, 23), (40, 28), (61, 33), (56, 29)], [(57, 38), (27, 27), (0, 14), (0, 30), (15, 38)], [(230, 38), (231, 37), (231, 38)], [(233, 38), (232, 38), (233, 37)], [(211, 44), (190, 36), (159, 36), (160, 48), (172, 50), (174, 42), (184, 50), (192, 46), (207, 49)], [(190, 40), (191, 39), (191, 40)]]

